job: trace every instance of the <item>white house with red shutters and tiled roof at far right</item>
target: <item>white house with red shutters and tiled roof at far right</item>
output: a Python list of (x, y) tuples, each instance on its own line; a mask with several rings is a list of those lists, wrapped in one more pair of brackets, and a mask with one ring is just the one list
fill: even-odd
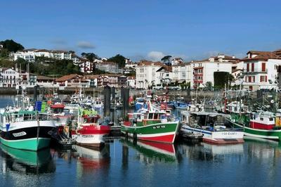
[(277, 86), (281, 51), (249, 51), (244, 63), (244, 89), (273, 89)]

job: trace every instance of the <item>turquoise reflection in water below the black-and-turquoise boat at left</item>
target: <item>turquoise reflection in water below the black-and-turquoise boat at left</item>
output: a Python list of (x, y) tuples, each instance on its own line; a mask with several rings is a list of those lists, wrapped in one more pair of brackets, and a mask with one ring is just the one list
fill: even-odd
[(19, 150), (1, 144), (1, 157), (3, 170), (23, 174), (43, 174), (55, 172), (55, 164), (50, 149)]

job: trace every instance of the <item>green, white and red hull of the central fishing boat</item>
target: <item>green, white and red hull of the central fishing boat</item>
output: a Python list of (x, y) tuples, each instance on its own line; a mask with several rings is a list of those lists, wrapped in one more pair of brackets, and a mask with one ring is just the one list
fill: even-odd
[(177, 131), (178, 122), (156, 123), (143, 127), (131, 127), (122, 124), (121, 127), (122, 134), (131, 138), (162, 143), (174, 143)]

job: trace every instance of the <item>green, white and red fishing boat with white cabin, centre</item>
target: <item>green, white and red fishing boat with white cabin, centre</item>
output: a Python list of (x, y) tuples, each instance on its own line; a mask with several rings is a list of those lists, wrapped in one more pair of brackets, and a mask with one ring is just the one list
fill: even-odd
[(178, 120), (169, 113), (152, 108), (149, 101), (148, 110), (128, 114), (129, 121), (121, 124), (121, 132), (131, 138), (143, 141), (174, 143), (178, 131)]

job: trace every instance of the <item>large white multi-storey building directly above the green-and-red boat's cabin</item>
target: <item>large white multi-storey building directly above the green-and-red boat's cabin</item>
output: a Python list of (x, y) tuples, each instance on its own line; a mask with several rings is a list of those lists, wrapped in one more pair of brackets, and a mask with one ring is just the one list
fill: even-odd
[(148, 89), (157, 81), (156, 71), (165, 66), (160, 62), (141, 61), (136, 66), (136, 88)]

